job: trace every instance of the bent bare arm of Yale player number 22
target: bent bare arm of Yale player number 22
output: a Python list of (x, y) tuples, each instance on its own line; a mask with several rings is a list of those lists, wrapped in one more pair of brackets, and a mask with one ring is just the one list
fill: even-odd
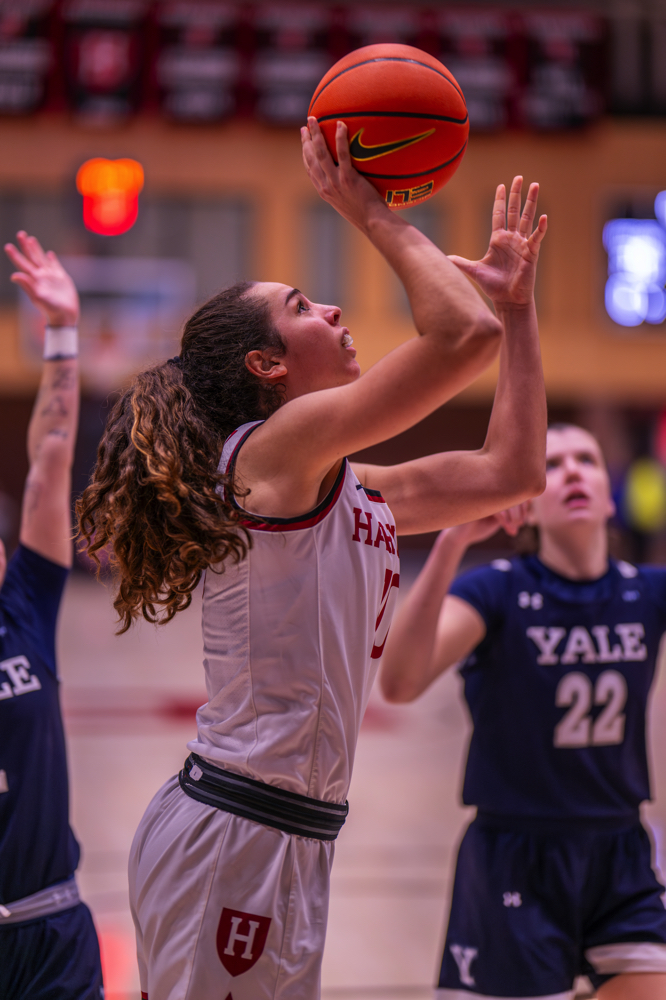
[(481, 642), (486, 632), (481, 615), (467, 601), (447, 596), (449, 587), (468, 546), (500, 527), (514, 535), (523, 516), (521, 505), (448, 528), (437, 537), (386, 641), (379, 682), (387, 701), (413, 701)]

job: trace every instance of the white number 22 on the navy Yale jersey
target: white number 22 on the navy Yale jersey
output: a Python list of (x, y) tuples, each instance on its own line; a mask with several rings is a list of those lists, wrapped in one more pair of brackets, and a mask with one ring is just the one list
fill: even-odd
[(566, 674), (557, 685), (555, 704), (569, 711), (555, 726), (556, 747), (611, 746), (624, 739), (627, 682), (617, 670), (604, 670), (594, 685), (594, 704), (604, 709), (593, 721), (592, 681), (587, 674)]

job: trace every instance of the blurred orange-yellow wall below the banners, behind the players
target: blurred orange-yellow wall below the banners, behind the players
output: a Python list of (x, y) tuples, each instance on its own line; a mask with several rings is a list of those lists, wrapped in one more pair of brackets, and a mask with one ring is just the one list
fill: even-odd
[[(131, 156), (144, 166), (146, 191), (249, 197), (255, 205), (256, 276), (303, 287), (302, 218), (313, 193), (297, 130), (254, 123), (186, 128), (145, 118), (91, 131), (64, 117), (44, 116), (0, 122), (0, 147), (4, 188), (60, 190), (73, 184), (76, 168), (92, 155)], [(460, 170), (433, 201), (446, 213), (447, 249), (471, 257), (483, 252), (495, 185), (509, 183), (514, 172), (526, 182), (540, 181), (549, 214), (538, 307), (551, 399), (666, 400), (666, 333), (623, 330), (605, 315), (601, 246), (604, 213), (613, 199), (666, 188), (666, 123), (606, 120), (568, 135), (472, 136)], [(345, 253), (351, 287), (344, 321), (368, 367), (413, 329), (397, 305), (395, 279), (376, 251), (350, 232)], [(0, 391), (28, 391), (34, 372), (21, 359), (16, 318), (8, 309), (0, 311), (0, 350)], [(493, 384), (491, 370), (463, 399), (488, 399)]]

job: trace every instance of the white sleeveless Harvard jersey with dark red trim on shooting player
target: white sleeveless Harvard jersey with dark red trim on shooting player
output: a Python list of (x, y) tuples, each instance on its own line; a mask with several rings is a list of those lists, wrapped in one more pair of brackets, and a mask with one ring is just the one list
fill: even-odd
[[(233, 471), (259, 423), (227, 438), (221, 469)], [(208, 703), (188, 748), (288, 791), (344, 802), (399, 584), (395, 522), (345, 459), (308, 514), (243, 523), (246, 557), (206, 573)]]

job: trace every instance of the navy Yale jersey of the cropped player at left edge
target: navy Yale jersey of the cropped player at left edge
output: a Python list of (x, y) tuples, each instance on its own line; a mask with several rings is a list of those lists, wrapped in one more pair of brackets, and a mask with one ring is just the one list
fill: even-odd
[(75, 871), (55, 628), (67, 570), (19, 546), (0, 590), (0, 902)]

